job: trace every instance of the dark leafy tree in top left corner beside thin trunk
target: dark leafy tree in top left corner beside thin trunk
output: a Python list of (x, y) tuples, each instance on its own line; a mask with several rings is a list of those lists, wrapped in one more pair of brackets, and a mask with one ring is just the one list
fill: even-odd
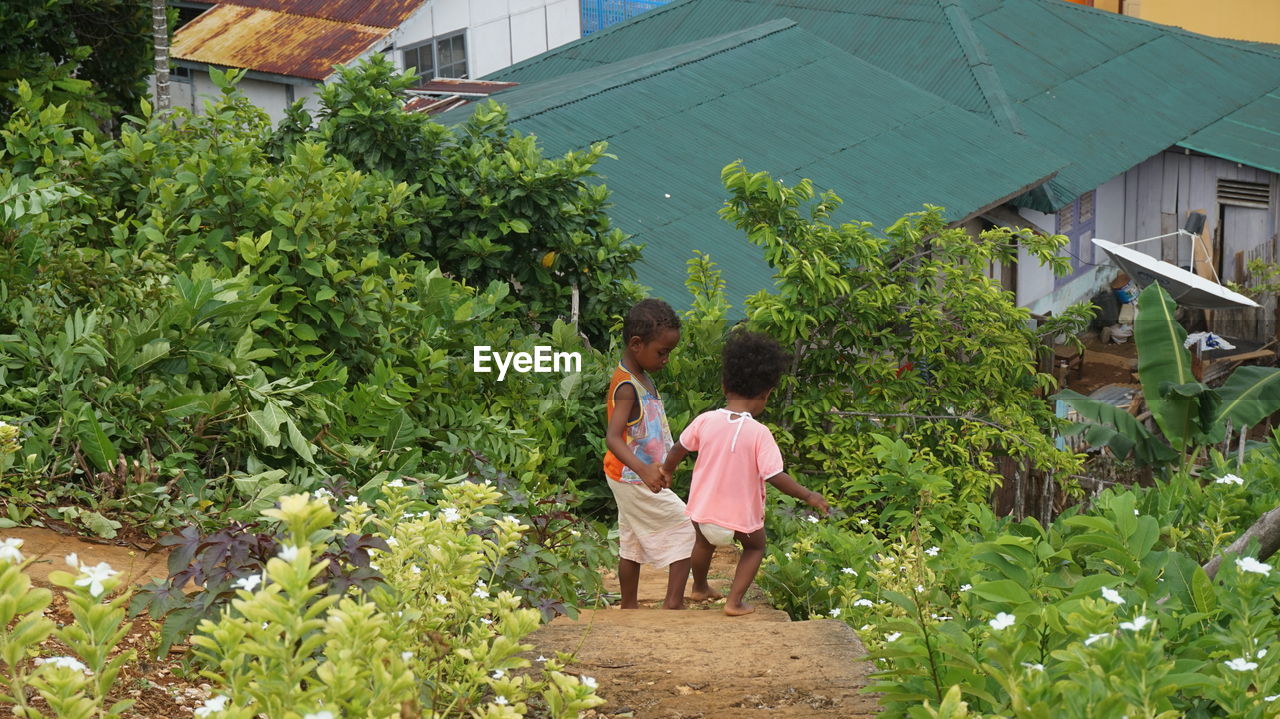
[(151, 73), (150, 4), (145, 0), (0, 3), (0, 118), (26, 81), (69, 116), (96, 128), (132, 110)]

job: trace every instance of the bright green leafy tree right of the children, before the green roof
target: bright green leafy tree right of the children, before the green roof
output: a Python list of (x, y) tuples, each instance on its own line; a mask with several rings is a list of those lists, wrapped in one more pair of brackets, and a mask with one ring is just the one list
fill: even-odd
[[(764, 248), (777, 292), (748, 298), (748, 317), (794, 352), (772, 416), (806, 486), (855, 513), (910, 525), (965, 521), (1014, 457), (1065, 475), (1075, 459), (1053, 446), (1052, 377), (1036, 371), (1029, 313), (983, 273), (1020, 244), (1061, 270), (1062, 237), (993, 229), (974, 238), (927, 207), (877, 233), (833, 225), (840, 198), (815, 198), (741, 164), (723, 171), (722, 216)], [(1052, 336), (1088, 317), (1074, 307), (1039, 330)], [(910, 452), (904, 454), (902, 449)], [(920, 478), (920, 482), (911, 481)], [(882, 514), (901, 500), (913, 508)]]

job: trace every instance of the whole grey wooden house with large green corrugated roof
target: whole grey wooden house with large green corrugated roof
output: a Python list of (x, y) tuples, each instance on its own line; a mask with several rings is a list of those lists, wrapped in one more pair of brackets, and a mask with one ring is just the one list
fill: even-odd
[[(675, 0), (488, 79), (520, 83), (495, 99), (549, 150), (611, 142), (617, 224), (646, 244), (641, 281), (676, 304), (692, 249), (726, 262), (739, 297), (768, 287), (714, 214), (736, 159), (835, 189), (842, 220), (928, 202), (1069, 235), (1070, 276), (1005, 271), (1033, 311), (1115, 276), (1092, 237), (1174, 233), (1197, 210), (1224, 280), (1276, 258), (1272, 46), (1060, 0)], [(1192, 265), (1176, 237), (1137, 248)]]

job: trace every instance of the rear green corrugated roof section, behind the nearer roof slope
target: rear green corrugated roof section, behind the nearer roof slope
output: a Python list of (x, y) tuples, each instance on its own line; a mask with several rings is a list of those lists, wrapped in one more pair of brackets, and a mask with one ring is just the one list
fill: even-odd
[[(1188, 136), (1197, 150), (1274, 166), (1267, 154), (1234, 154), (1280, 127), (1261, 99), (1280, 86), (1275, 46), (1061, 0), (676, 0), (490, 77), (541, 81), (778, 18), (1070, 160), (1042, 197), (1021, 198), (1039, 210)], [(1238, 110), (1252, 119), (1224, 120)]]

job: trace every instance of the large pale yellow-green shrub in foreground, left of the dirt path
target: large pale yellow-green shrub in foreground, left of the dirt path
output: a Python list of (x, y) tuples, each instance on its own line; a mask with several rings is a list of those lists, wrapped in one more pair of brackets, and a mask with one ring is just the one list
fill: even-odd
[(532, 667), (521, 656), (540, 615), (492, 589), (495, 564), (527, 528), (483, 513), (500, 494), (458, 482), (439, 505), (412, 513), (401, 484), (376, 510), (353, 503), (342, 516), (339, 531), (372, 531), (390, 546), (375, 557), (387, 585), (367, 594), (311, 585), (324, 568), (312, 558), (337, 519), (324, 499), (288, 495), (265, 512), (287, 527), (289, 544), (192, 637), (220, 691), (204, 715), (571, 718), (603, 704), (594, 681), (567, 674), (561, 660)]

